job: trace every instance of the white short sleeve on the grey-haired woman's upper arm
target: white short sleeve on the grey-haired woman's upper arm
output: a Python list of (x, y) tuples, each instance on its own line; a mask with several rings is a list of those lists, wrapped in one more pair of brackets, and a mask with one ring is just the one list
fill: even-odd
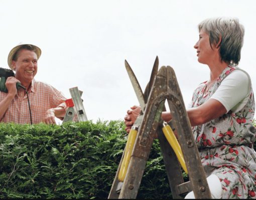
[(220, 101), (227, 112), (233, 108), (242, 108), (249, 97), (249, 77), (242, 70), (235, 70), (224, 78), (210, 97)]

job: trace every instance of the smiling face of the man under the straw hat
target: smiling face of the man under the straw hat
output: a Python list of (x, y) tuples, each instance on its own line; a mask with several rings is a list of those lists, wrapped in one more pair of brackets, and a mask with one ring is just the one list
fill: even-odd
[(34, 51), (21, 49), (16, 61), (12, 61), (16, 78), (22, 83), (30, 84), (37, 74), (37, 54)]

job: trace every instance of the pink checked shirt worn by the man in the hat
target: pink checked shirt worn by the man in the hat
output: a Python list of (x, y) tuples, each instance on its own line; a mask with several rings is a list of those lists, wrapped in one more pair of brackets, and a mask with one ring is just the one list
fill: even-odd
[[(33, 123), (42, 122), (46, 111), (50, 108), (64, 107), (66, 109), (64, 102), (66, 98), (50, 84), (33, 79), (28, 93)], [(7, 93), (0, 91), (0, 101), (6, 96)], [(22, 88), (18, 90), (0, 122), (30, 123), (28, 97)]]

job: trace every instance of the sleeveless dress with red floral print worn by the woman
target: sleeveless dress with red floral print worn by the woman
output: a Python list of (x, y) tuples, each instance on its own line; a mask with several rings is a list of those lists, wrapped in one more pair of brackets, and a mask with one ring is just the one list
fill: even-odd
[[(227, 66), (208, 91), (207, 81), (201, 83), (193, 93), (191, 107), (207, 101), (233, 70), (241, 69)], [(219, 118), (192, 127), (206, 174), (216, 174), (221, 181), (222, 198), (256, 198), (254, 109), (250, 86), (249, 99), (242, 109), (236, 112), (230, 110)]]

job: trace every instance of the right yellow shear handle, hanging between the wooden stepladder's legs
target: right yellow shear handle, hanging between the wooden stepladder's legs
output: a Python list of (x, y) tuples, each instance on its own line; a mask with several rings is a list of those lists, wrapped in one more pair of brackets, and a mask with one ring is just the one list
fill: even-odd
[(163, 130), (165, 137), (167, 138), (169, 144), (172, 146), (182, 168), (184, 169), (184, 171), (186, 173), (188, 173), (188, 169), (185, 164), (185, 160), (184, 160), (184, 157), (183, 157), (183, 154), (181, 151), (180, 144), (179, 144), (171, 126), (167, 122), (164, 122), (164, 127), (162, 128), (162, 130)]

